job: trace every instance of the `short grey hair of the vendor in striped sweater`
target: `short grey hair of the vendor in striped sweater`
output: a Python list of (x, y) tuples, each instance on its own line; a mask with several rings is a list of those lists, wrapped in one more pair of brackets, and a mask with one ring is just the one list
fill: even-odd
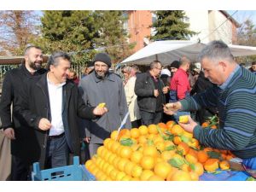
[(204, 58), (211, 61), (219, 61), (221, 59), (234, 61), (234, 56), (231, 54), (230, 48), (220, 40), (210, 42), (201, 50), (201, 53), (198, 55), (198, 61), (201, 62)]

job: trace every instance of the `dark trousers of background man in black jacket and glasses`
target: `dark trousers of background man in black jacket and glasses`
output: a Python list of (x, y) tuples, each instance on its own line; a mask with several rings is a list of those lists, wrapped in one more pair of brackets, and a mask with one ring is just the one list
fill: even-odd
[(158, 124), (161, 122), (162, 119), (162, 111), (150, 113), (146, 111), (141, 111), (141, 118), (142, 118), (142, 125), (151, 125), (151, 124)]

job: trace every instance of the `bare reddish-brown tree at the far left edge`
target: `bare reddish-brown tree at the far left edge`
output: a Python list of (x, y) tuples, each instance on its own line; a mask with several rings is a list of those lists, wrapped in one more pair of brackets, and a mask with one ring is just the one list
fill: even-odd
[(20, 55), (38, 37), (39, 17), (34, 11), (0, 11), (0, 55)]

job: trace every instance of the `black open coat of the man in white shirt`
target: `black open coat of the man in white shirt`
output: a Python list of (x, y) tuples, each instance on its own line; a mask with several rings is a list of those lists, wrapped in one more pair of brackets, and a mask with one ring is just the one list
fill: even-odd
[[(46, 79), (47, 73), (34, 79), (35, 82), (28, 82), (20, 92), (20, 100), (15, 113), (20, 113), (20, 118), (25, 119), (27, 125), (33, 130), (32, 147), (33, 154), (30, 154), (32, 161), (39, 161), (44, 167), (46, 143), (49, 131), (41, 131), (38, 128), (39, 120), (42, 118), (51, 120), (49, 93)], [(62, 94), (62, 120), (67, 138), (67, 144), (74, 155), (79, 155), (79, 125), (77, 117), (84, 119), (95, 119), (92, 113), (94, 108), (85, 106), (79, 94), (77, 85), (68, 82), (63, 85)]]

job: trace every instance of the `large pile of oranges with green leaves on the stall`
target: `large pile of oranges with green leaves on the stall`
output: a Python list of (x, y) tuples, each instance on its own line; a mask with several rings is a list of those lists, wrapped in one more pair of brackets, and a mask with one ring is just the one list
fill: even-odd
[(230, 151), (204, 148), (168, 121), (122, 129), (119, 135), (113, 131), (85, 167), (99, 181), (197, 181), (204, 172), (229, 170), (233, 157)]

